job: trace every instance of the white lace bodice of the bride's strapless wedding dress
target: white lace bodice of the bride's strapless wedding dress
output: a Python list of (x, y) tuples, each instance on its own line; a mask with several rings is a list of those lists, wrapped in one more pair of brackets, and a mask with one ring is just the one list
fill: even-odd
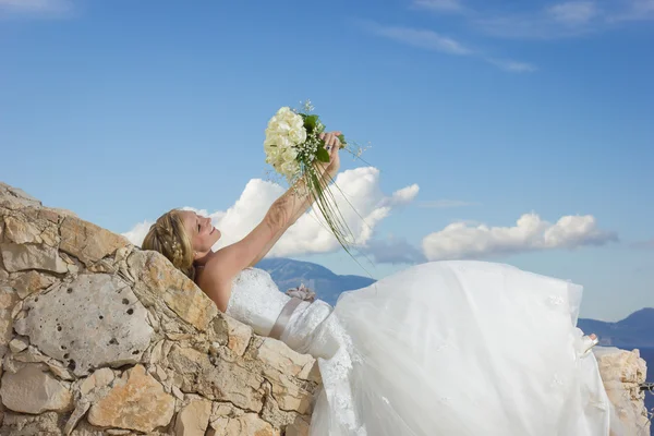
[[(269, 336), (290, 299), (279, 291), (267, 271), (249, 268), (241, 271), (232, 282), (227, 314), (247, 324), (256, 334)], [(300, 303), (280, 339), (299, 352), (310, 352), (312, 334), (330, 313), (331, 306), (320, 300)]]

